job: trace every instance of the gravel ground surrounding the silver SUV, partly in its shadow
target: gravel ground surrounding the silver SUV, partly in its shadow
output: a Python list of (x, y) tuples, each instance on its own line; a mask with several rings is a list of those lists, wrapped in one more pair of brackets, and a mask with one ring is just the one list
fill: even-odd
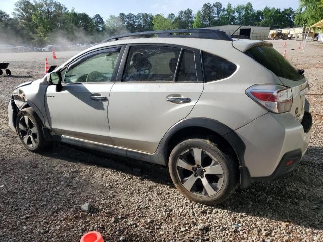
[[(50, 53), (1, 54), (12, 76), (0, 77), (0, 241), (79, 241), (92, 230), (104, 241), (323, 241), (323, 44), (303, 53), (286, 42), (287, 58), (310, 82), (308, 152), (294, 173), (217, 206), (181, 196), (165, 167), (57, 143), (26, 151), (8, 129), (9, 94), (43, 76), (45, 57), (55, 63)], [(273, 41), (281, 53), (283, 43)], [(56, 63), (74, 54), (57, 52)]]

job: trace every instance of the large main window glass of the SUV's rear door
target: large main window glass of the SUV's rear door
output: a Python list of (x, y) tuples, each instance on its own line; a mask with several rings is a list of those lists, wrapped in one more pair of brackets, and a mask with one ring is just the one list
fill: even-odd
[(167, 46), (132, 46), (122, 81), (173, 81), (181, 49)]

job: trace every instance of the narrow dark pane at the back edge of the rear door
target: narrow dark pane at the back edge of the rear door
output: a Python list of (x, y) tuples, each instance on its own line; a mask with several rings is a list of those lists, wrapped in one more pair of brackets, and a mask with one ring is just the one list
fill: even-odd
[(178, 82), (196, 82), (196, 68), (194, 52), (192, 50), (184, 50), (180, 67), (177, 73), (176, 81)]

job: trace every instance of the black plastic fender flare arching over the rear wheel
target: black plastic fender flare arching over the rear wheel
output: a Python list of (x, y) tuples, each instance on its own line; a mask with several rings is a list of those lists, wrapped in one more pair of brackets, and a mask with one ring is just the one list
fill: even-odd
[[(167, 144), (169, 140), (176, 132), (187, 127), (207, 128), (222, 136), (232, 146), (238, 157), (240, 170), (240, 188), (246, 188), (252, 183), (249, 170), (245, 166), (244, 161), (244, 153), (246, 149), (244, 142), (233, 129), (217, 120), (203, 117), (186, 118), (180, 120), (166, 132), (163, 139), (161, 139), (158, 145), (156, 153), (163, 155), (164, 160), (167, 161), (167, 157), (165, 156), (167, 154)], [(165, 164), (166, 163), (167, 162), (165, 162)]]

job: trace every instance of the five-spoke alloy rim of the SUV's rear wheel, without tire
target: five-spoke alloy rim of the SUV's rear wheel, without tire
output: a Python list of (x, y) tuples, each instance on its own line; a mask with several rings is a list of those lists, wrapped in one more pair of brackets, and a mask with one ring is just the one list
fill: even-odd
[(177, 159), (176, 169), (183, 187), (195, 195), (213, 196), (223, 185), (221, 165), (205, 150), (185, 150)]

